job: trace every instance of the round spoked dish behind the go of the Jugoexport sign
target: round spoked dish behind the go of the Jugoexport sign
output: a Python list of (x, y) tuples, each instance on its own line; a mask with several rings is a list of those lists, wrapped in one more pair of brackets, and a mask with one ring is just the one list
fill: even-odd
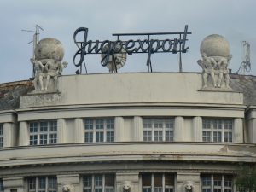
[[(113, 49), (113, 53), (109, 55), (107, 65), (109, 71), (115, 71), (115, 69), (119, 69), (125, 65), (125, 61), (127, 58), (127, 54), (125, 52), (125, 49), (122, 47), (121, 44), (115, 44), (115, 47)], [(106, 44), (102, 48), (102, 52), (107, 52), (108, 51), (108, 44)], [(107, 54), (102, 54), (102, 62), (105, 62), (107, 59), (106, 57)], [(114, 67), (114, 64), (116, 67)]]

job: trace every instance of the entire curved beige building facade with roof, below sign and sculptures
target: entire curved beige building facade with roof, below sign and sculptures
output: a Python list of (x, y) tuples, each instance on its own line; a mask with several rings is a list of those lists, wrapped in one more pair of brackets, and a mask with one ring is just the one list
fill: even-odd
[(256, 162), (256, 78), (108, 73), (0, 84), (1, 192), (236, 191)]

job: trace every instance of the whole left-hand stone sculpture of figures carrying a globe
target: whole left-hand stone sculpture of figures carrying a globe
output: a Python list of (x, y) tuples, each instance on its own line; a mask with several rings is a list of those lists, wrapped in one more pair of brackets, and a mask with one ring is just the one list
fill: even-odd
[(38, 42), (35, 59), (31, 59), (35, 70), (33, 80), (35, 91), (58, 90), (58, 78), (63, 68), (67, 67), (67, 62), (62, 62), (63, 56), (63, 46), (57, 39), (44, 38)]

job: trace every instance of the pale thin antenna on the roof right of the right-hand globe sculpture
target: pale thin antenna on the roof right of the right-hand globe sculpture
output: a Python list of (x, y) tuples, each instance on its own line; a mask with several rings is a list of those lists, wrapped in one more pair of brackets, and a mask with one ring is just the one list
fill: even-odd
[(236, 74), (245, 74), (251, 71), (251, 61), (250, 61), (250, 44), (247, 41), (242, 41), (243, 48), (243, 61), (236, 72)]

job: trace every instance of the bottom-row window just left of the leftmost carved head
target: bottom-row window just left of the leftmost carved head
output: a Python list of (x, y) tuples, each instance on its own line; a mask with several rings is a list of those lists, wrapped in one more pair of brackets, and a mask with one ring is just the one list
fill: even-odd
[(57, 177), (31, 177), (27, 179), (28, 192), (57, 192)]

